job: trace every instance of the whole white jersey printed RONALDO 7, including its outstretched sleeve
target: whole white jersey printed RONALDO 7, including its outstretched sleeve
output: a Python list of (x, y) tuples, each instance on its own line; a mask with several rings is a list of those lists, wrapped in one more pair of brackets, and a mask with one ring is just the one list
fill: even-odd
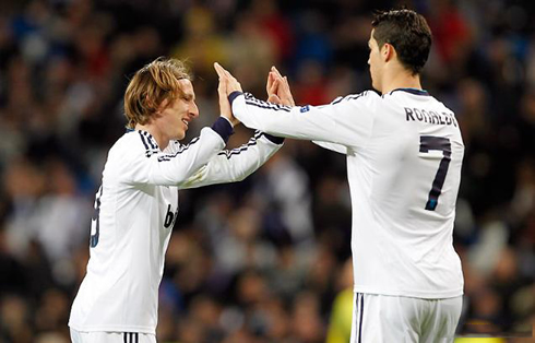
[(463, 293), (453, 221), (464, 144), (453, 113), (425, 91), (368, 91), (285, 107), (230, 94), (243, 125), (347, 155), (355, 292), (418, 298)]

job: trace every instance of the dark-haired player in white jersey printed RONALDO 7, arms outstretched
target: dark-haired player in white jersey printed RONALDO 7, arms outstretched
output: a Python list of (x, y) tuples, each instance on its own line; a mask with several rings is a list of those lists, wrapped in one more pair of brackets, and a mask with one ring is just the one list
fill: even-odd
[(270, 82), (281, 104), (243, 94), (226, 79), (233, 114), (264, 132), (311, 140), (347, 156), (353, 224), (350, 343), (453, 342), (463, 294), (453, 222), (464, 144), (453, 113), (421, 88), (431, 46), (412, 10), (371, 23), (372, 86), (324, 106), (294, 106), (286, 81)]

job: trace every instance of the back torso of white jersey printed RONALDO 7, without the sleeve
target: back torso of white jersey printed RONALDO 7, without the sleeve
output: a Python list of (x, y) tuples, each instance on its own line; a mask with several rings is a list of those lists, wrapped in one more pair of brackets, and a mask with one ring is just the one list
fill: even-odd
[(456, 119), (416, 90), (378, 97), (373, 116), (368, 144), (347, 159), (355, 291), (459, 296), (452, 232), (464, 144)]

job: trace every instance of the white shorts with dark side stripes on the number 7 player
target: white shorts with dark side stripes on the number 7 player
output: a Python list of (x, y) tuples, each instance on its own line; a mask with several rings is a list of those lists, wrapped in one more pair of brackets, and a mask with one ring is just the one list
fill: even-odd
[(463, 297), (420, 299), (355, 293), (350, 343), (453, 342)]

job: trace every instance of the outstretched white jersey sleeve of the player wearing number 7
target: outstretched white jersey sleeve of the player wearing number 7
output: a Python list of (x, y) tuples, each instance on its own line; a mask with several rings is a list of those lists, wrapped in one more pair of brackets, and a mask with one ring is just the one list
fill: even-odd
[(248, 128), (358, 149), (370, 137), (377, 97), (374, 92), (364, 92), (329, 105), (298, 107), (266, 103), (239, 92), (229, 99), (234, 115)]

